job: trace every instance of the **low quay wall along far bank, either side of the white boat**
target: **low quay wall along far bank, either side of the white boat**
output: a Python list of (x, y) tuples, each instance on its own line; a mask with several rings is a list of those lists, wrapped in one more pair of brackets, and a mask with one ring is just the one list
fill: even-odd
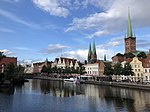
[[(35, 76), (35, 77), (33, 77), (33, 79), (63, 81), (62, 78), (53, 78), (53, 77), (48, 77), (48, 76)], [(122, 87), (122, 88), (130, 88), (130, 89), (141, 89), (141, 90), (149, 90), (150, 91), (150, 84), (142, 84), (142, 83), (87, 80), (87, 81), (85, 81), (85, 84), (94, 84), (94, 85), (112, 86), (112, 87)]]

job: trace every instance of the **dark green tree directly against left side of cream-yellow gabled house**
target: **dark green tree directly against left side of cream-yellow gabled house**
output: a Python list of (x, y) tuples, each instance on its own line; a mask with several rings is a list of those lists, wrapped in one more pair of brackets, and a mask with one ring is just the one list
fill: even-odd
[(132, 67), (131, 67), (130, 63), (125, 63), (122, 73), (125, 76), (129, 76), (129, 75), (133, 75), (134, 74), (132, 72)]

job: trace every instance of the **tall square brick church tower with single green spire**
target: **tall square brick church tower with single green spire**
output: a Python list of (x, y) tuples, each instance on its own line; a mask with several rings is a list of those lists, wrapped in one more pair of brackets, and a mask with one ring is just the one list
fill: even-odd
[(136, 52), (136, 37), (132, 33), (132, 25), (130, 20), (130, 12), (128, 11), (128, 29), (125, 37), (125, 53)]

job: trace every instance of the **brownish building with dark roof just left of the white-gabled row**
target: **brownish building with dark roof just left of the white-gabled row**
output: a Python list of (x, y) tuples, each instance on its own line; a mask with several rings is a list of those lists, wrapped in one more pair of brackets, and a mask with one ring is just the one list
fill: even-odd
[(33, 63), (33, 73), (41, 73), (43, 66), (51, 67), (51, 65), (52, 62), (48, 61), (48, 59), (44, 62)]

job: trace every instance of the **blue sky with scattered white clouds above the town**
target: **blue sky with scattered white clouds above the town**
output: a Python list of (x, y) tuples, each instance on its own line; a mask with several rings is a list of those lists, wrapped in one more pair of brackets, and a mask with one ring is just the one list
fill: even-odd
[(0, 51), (32, 63), (86, 60), (95, 41), (103, 60), (124, 53), (130, 11), (137, 49), (150, 49), (150, 0), (0, 0)]

